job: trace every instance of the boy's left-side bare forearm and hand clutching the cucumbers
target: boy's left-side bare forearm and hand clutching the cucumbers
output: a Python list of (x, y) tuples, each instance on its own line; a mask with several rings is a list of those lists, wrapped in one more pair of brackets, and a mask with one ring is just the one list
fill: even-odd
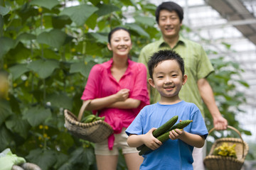
[(153, 136), (152, 132), (154, 130), (156, 130), (156, 128), (151, 128), (151, 130), (144, 135), (129, 135), (127, 144), (129, 147), (139, 147), (144, 144), (152, 150), (159, 148), (162, 143)]

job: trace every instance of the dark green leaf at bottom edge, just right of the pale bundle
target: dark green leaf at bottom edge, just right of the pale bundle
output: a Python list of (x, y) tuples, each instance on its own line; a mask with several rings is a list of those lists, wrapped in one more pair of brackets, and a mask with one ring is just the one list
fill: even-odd
[(41, 169), (51, 169), (58, 157), (56, 157), (57, 152), (54, 150), (46, 149), (33, 149), (29, 152), (26, 159), (28, 162), (37, 164)]

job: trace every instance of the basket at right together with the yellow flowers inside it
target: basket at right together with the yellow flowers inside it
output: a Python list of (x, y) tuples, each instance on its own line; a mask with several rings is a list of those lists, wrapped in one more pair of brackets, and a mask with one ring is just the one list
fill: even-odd
[[(242, 164), (245, 162), (249, 147), (247, 143), (242, 140), (242, 136), (237, 129), (232, 126), (228, 126), (228, 128), (237, 132), (240, 139), (223, 137), (215, 140), (210, 149), (210, 153), (203, 160), (203, 163), (209, 170), (240, 170)], [(214, 129), (215, 128), (209, 131), (209, 135)]]

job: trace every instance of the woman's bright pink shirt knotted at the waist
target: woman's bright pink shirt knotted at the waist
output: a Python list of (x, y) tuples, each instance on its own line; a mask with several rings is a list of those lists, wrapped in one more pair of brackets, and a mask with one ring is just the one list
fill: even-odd
[[(129, 98), (141, 101), (138, 108), (119, 109), (104, 108), (100, 111), (100, 117), (105, 116), (105, 121), (110, 124), (114, 133), (122, 132), (122, 128), (127, 128), (139, 111), (149, 104), (149, 94), (147, 91), (146, 67), (142, 63), (128, 60), (128, 67), (119, 82), (111, 74), (113, 60), (92, 67), (85, 90), (81, 99), (83, 101), (103, 98), (116, 94), (121, 89), (129, 89)], [(93, 111), (96, 113), (97, 111)], [(114, 144), (114, 135), (109, 137), (109, 148)]]

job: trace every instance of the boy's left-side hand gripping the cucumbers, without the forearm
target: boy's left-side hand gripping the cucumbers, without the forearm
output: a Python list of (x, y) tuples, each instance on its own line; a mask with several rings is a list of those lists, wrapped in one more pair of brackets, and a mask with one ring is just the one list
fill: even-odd
[(151, 128), (151, 130), (149, 130), (149, 132), (147, 132), (144, 135), (144, 140), (143, 140), (144, 144), (152, 150), (155, 150), (162, 145), (162, 142), (153, 136), (152, 132), (154, 130), (156, 130), (156, 128)]

